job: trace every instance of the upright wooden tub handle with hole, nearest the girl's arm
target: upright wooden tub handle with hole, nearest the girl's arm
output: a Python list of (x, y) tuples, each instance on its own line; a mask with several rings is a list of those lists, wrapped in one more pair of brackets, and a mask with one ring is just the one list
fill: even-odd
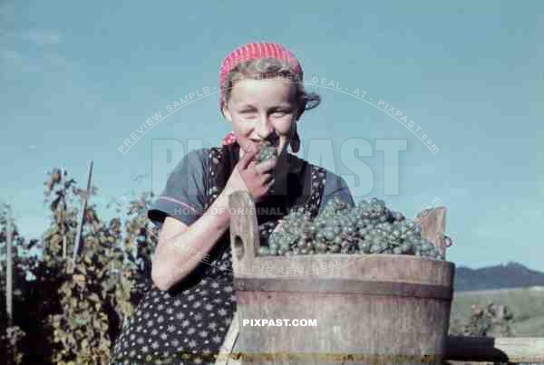
[(228, 196), (230, 212), (230, 247), (236, 276), (239, 264), (248, 267), (256, 257), (260, 245), (255, 202), (246, 191)]

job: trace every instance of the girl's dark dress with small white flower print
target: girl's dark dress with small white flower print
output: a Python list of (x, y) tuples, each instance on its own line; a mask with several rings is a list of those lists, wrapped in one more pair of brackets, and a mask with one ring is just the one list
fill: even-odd
[[(238, 162), (238, 144), (209, 149), (206, 207), (220, 191)], [(323, 197), (325, 169), (296, 158), (298, 166), (287, 178), (287, 194), (270, 196), (259, 207), (276, 212), (257, 215), (261, 245), (291, 209), (303, 208), (316, 216)], [(277, 214), (277, 212), (282, 212)], [(199, 264), (175, 288), (161, 291), (149, 283), (135, 312), (123, 323), (111, 364), (214, 364), (236, 312), (231, 271), (230, 235), (221, 236), (209, 253), (212, 264)]]

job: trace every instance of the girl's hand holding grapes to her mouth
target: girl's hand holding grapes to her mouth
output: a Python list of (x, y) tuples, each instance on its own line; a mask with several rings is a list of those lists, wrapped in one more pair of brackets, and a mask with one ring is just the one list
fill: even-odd
[(277, 158), (269, 158), (257, 164), (258, 152), (257, 146), (250, 143), (228, 178), (225, 187), (227, 196), (234, 191), (247, 191), (257, 203), (267, 195), (275, 181), (271, 170), (276, 167)]

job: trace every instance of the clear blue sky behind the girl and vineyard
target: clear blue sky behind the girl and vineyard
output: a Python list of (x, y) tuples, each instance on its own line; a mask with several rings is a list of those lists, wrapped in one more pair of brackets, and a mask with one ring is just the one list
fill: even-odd
[[(455, 241), (450, 260), (544, 270), (543, 2), (270, 4), (2, 2), (0, 199), (15, 207), (21, 231), (44, 231), (43, 183), (53, 167), (83, 182), (92, 158), (100, 191), (93, 201), (101, 207), (131, 191), (159, 193), (166, 173), (152, 168), (163, 159), (153, 158), (152, 147), (173, 146), (179, 159), (191, 149), (188, 139), (218, 145), (229, 130), (213, 90), (219, 64), (238, 45), (269, 41), (296, 53), (306, 81), (344, 89), (308, 85), (323, 102), (299, 130), (304, 150), (332, 140), (334, 157), (320, 160), (339, 175), (353, 174), (342, 143), (368, 141), (372, 156), (361, 159), (374, 181), (353, 180), (355, 200), (383, 197), (413, 216), (439, 198)], [(161, 119), (121, 154), (145, 120), (205, 87), (208, 97)], [(357, 89), (368, 99), (355, 98)], [(378, 108), (379, 100), (419, 125), (439, 151)], [(406, 140), (398, 195), (384, 196), (376, 139)], [(299, 156), (319, 162), (307, 151)], [(145, 178), (135, 181), (138, 175)]]

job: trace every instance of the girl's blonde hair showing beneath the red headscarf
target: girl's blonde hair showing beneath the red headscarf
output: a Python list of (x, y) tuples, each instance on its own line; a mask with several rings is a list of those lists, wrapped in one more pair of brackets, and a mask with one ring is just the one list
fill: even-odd
[(291, 65), (287, 62), (282, 62), (276, 58), (259, 58), (246, 62), (239, 62), (230, 72), (221, 89), (224, 92), (224, 101), (221, 104), (221, 112), (223, 107), (230, 98), (230, 92), (236, 82), (245, 79), (262, 80), (281, 76), (296, 85), (296, 101), (300, 106), (296, 119), (300, 118), (305, 110), (316, 108), (321, 103), (321, 97), (316, 92), (306, 92), (303, 83), (302, 72), (295, 72)]

